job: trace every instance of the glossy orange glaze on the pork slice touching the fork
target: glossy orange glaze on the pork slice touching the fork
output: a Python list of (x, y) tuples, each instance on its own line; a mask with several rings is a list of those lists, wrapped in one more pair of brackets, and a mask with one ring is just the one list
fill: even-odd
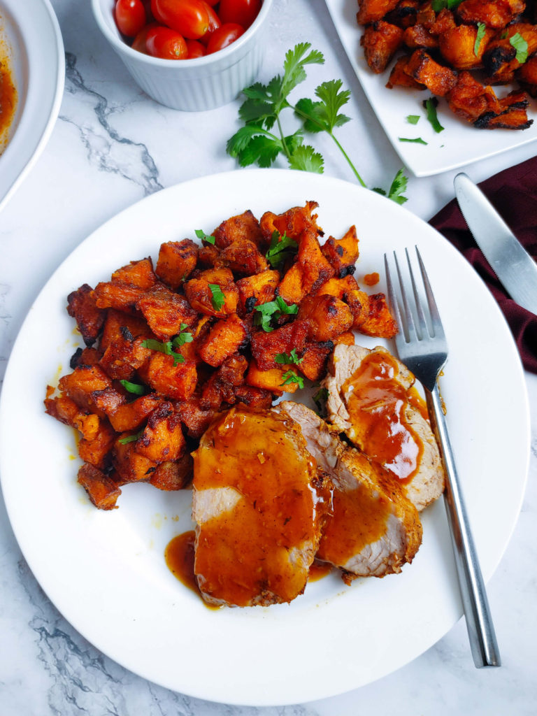
[(368, 354), (344, 383), (357, 442), (402, 482), (411, 480), (420, 466), (423, 445), (405, 420), (407, 390), (397, 380), (397, 363), (388, 354)]

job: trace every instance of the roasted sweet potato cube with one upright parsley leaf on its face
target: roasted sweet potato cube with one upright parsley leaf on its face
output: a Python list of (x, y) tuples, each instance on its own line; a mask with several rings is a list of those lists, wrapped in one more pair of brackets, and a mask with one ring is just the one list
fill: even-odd
[(185, 295), (190, 306), (206, 316), (228, 316), (237, 310), (238, 289), (229, 269), (201, 271), (187, 281)]

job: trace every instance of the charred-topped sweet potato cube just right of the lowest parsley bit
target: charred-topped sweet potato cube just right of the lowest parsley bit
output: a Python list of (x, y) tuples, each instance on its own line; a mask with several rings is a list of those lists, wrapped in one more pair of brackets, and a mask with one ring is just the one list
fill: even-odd
[(135, 442), (135, 452), (164, 463), (178, 460), (186, 450), (181, 420), (172, 403), (162, 402), (150, 414), (142, 435)]

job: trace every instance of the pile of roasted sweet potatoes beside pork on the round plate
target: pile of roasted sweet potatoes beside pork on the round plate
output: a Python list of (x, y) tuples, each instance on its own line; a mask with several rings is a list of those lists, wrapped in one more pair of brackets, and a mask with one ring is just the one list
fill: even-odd
[(384, 294), (354, 279), (354, 226), (324, 243), (316, 203), (257, 221), (250, 211), (202, 241), (169, 241), (158, 261), (132, 261), (67, 299), (86, 347), (47, 388), (45, 407), (80, 433), (78, 480), (102, 509), (121, 485), (178, 490), (216, 414), (269, 407), (304, 379), (318, 381), (353, 329), (397, 332)]

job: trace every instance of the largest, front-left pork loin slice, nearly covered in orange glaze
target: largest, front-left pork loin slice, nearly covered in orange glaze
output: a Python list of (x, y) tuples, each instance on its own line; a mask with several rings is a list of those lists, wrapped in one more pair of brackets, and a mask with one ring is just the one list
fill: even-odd
[(194, 572), (208, 604), (268, 605), (304, 591), (329, 490), (299, 425), (232, 408), (193, 453)]

